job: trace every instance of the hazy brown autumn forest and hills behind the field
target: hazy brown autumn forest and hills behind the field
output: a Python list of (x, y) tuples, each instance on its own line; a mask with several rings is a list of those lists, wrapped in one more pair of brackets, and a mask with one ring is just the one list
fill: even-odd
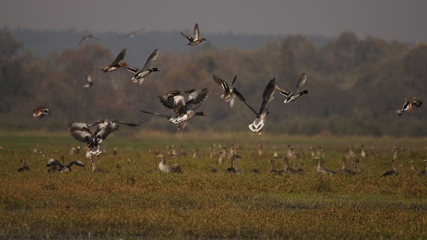
[[(15, 35), (24, 36), (19, 31)], [(0, 130), (67, 131), (71, 122), (110, 118), (140, 123), (140, 129), (173, 132), (176, 131), (173, 124), (139, 110), (171, 114), (156, 96), (175, 89), (207, 87), (210, 94), (198, 109), (205, 116), (191, 119), (185, 131), (250, 133), (248, 124), (254, 114), (242, 102), (229, 108), (220, 98), (222, 89), (213, 81), (212, 74), (228, 82), (238, 75), (234, 86), (250, 105), (259, 109), (263, 90), (271, 78), (276, 78), (281, 88), (293, 91), (300, 75), (306, 73), (304, 89), (310, 94), (289, 104), (284, 104), (284, 97), (276, 94), (264, 132), (427, 135), (426, 106), (401, 117), (394, 113), (405, 98), (426, 101), (425, 44), (412, 46), (371, 37), (361, 40), (350, 32), (336, 39), (320, 40), (320, 44), (312, 37), (276, 36), (265, 38), (267, 41), (260, 47), (247, 44), (251, 39), (260, 41), (260, 37), (254, 36), (245, 39), (208, 35), (204, 36), (208, 39), (206, 44), (194, 47), (186, 46), (179, 33), (174, 33), (167, 43), (158, 33), (143, 33), (131, 40), (120, 40), (112, 33), (108, 36), (109, 41), (100, 37), (100, 41), (87, 41), (80, 47), (77, 47), (79, 37), (65, 39), (67, 44), (71, 41), (69, 48), (53, 49), (46, 54), (26, 48), (25, 41), (18, 41), (7, 30), (0, 31)], [(215, 41), (221, 43), (224, 39), (235, 41), (234, 45), (224, 46)], [(62, 43), (58, 37), (53, 40), (46, 37), (45, 42), (45, 48), (48, 43)], [(180, 47), (162, 49), (165, 44)], [(96, 70), (109, 65), (124, 48), (127, 49), (124, 61), (138, 68), (158, 48), (160, 55), (152, 67), (160, 72), (150, 74), (138, 86), (131, 82), (133, 75), (125, 69), (111, 73)], [(91, 88), (83, 88), (86, 75), (94, 80)], [(33, 109), (44, 104), (51, 108), (52, 116), (33, 118)]]

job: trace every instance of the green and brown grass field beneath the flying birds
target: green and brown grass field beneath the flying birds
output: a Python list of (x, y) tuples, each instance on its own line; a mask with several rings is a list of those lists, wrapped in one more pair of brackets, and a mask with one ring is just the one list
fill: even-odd
[[(66, 133), (3, 133), (0, 238), (425, 239), (427, 177), (418, 172), (424, 168), (426, 140), (124, 130), (101, 144), (107, 151), (98, 165), (109, 172), (95, 174), (83, 144), (79, 155), (69, 155), (78, 142)], [(209, 158), (213, 143), (239, 146), (238, 174), (225, 173), (229, 158), (217, 173), (210, 171), (217, 160)], [(178, 158), (183, 174), (158, 170), (160, 159), (149, 152), (154, 144), (164, 153), (166, 146), (183, 145), (188, 153)], [(264, 155), (252, 159), (258, 144)], [(271, 174), (273, 146), (284, 156), (288, 144), (301, 154), (303, 175)], [(376, 156), (358, 156), (360, 174), (316, 172), (310, 146), (321, 146), (323, 165), (339, 172), (343, 152), (354, 146), (359, 154), (360, 144), (368, 153), (372, 146), (376, 149)], [(391, 169), (393, 146), (408, 149), (396, 159), (399, 174), (380, 178)], [(196, 159), (192, 148), (199, 149)], [(48, 173), (48, 159), (60, 155), (66, 163), (81, 160), (86, 167)], [(27, 159), (31, 171), (17, 171), (20, 158)], [(354, 159), (348, 157), (348, 168)], [(173, 165), (172, 158), (166, 160)], [(410, 160), (416, 171), (410, 170)], [(280, 170), (281, 159), (275, 161)], [(251, 173), (254, 164), (260, 174)]]

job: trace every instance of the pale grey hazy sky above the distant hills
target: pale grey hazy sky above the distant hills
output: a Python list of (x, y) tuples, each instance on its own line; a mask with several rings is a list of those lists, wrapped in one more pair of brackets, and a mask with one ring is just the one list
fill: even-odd
[(3, 1), (0, 27), (127, 33), (303, 34), (427, 42), (425, 0), (14, 0)]

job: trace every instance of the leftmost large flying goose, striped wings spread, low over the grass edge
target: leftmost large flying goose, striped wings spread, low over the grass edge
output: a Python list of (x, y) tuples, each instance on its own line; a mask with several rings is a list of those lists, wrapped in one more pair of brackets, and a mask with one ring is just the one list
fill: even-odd
[[(77, 141), (84, 142), (87, 144), (87, 148), (91, 149), (90, 153), (92, 155), (99, 155), (99, 143), (102, 142), (108, 135), (119, 129), (119, 125), (116, 123), (120, 123), (123, 125), (135, 127), (139, 126), (139, 124), (125, 123), (118, 120), (101, 120), (91, 124), (86, 123), (71, 123), (70, 126), (70, 134)], [(97, 126), (94, 133), (89, 129), (92, 126)]]

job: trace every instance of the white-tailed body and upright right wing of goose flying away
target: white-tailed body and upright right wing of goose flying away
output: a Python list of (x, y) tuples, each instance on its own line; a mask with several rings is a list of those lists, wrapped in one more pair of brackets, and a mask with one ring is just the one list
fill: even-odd
[(260, 111), (253, 111), (257, 115), (254, 122), (249, 124), (249, 129), (253, 134), (262, 134), (262, 129), (267, 121), (267, 114), (269, 114), (268, 108), (274, 99), (275, 85), (275, 79), (270, 80), (263, 93), (263, 103), (261, 104)]

